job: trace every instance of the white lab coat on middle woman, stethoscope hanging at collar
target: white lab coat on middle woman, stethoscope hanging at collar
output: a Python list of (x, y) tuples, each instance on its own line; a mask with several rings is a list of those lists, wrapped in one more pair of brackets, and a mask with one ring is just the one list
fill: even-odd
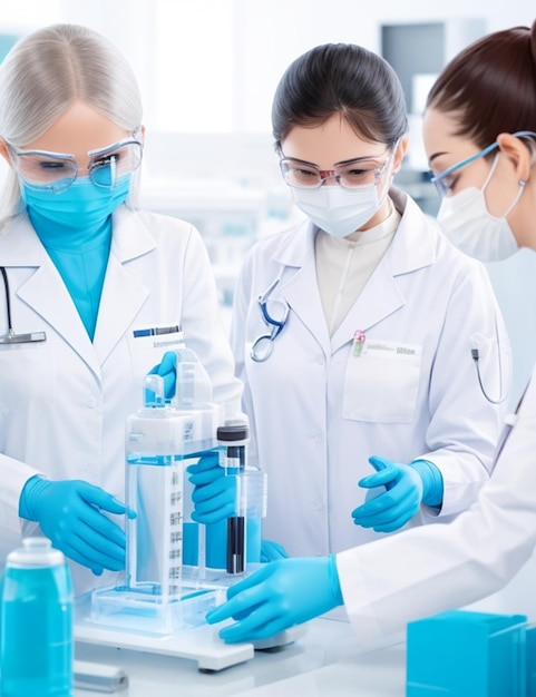
[[(440, 470), (440, 518), (468, 508), (488, 479), (506, 401), (510, 348), (484, 266), (458, 252), (410, 197), (390, 193), (402, 213), (384, 257), (330, 338), (316, 283), (315, 227), (305, 222), (260, 240), (235, 293), (232, 347), (245, 383), (251, 458), (267, 472), (264, 537), (291, 556), (327, 554), (381, 537), (353, 524), (364, 501), (358, 480), (369, 455), (423, 458)], [(290, 314), (267, 361), (250, 357), (269, 333), (257, 298)], [(361, 357), (354, 332), (366, 333)], [(425, 507), (426, 508), (426, 507)], [(416, 517), (437, 520), (436, 511)], [(418, 524), (420, 520), (410, 521)]]

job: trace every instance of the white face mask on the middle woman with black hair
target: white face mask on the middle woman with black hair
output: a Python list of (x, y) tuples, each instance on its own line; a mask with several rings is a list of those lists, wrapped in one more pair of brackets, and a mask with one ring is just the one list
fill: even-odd
[(333, 237), (351, 235), (380, 208), (376, 184), (355, 189), (343, 189), (339, 185), (324, 185), (318, 189), (293, 188), (292, 195), (300, 210)]

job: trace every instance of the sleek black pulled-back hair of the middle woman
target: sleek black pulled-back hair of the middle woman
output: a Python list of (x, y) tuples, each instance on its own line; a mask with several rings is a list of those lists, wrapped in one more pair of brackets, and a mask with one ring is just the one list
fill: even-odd
[(393, 145), (408, 130), (402, 87), (380, 56), (351, 43), (327, 43), (296, 58), (275, 90), (275, 148), (294, 126), (315, 127), (340, 114), (362, 138)]

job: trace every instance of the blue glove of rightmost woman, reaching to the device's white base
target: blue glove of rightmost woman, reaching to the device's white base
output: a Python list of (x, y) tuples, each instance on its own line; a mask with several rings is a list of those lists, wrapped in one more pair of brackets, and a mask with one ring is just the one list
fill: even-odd
[(334, 554), (272, 561), (231, 586), (227, 602), (206, 615), (209, 625), (232, 617), (220, 630), (227, 644), (267, 639), (342, 605)]

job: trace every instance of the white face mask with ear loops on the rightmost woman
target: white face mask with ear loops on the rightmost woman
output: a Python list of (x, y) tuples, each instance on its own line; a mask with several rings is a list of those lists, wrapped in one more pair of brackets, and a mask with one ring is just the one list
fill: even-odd
[(486, 206), (484, 192), (497, 166), (497, 157), (481, 189), (470, 186), (444, 198), (437, 215), (437, 222), (450, 242), (481, 262), (500, 262), (518, 249), (506, 216), (519, 200), (525, 181), (519, 181), (515, 199), (500, 218), (491, 215)]

